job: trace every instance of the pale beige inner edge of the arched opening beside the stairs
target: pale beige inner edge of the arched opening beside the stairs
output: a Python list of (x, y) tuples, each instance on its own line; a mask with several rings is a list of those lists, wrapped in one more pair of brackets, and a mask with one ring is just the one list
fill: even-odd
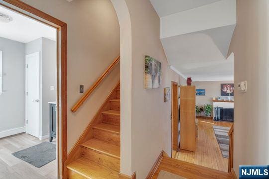
[(120, 25), (120, 79), (121, 79), (121, 168), (131, 176), (131, 116), (132, 116), (132, 29), (125, 0), (111, 0)]

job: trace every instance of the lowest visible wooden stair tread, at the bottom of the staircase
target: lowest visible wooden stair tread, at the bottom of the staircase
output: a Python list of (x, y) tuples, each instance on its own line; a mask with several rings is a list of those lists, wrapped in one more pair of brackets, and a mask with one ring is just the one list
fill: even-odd
[(67, 165), (67, 168), (87, 179), (118, 179), (117, 171), (102, 167), (83, 157)]

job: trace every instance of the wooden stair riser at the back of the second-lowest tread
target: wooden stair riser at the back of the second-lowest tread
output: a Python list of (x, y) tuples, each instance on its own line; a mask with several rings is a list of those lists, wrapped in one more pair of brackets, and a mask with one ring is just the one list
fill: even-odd
[(120, 134), (115, 134), (100, 129), (94, 129), (94, 138), (120, 146)]

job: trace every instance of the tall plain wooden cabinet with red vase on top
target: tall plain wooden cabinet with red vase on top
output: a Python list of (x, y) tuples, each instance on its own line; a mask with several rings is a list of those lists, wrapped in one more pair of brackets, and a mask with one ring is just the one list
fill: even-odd
[(196, 151), (195, 86), (180, 86), (180, 149)]

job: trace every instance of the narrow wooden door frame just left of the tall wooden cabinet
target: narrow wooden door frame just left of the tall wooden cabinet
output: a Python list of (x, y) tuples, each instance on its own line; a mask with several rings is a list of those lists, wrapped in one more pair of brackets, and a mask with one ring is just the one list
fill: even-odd
[[(176, 95), (174, 95), (174, 93)], [(178, 83), (172, 81), (171, 85), (171, 139), (172, 139), (172, 152), (173, 150), (178, 151)], [(176, 137), (175, 137), (176, 136)], [(172, 156), (173, 157), (173, 156)]]

